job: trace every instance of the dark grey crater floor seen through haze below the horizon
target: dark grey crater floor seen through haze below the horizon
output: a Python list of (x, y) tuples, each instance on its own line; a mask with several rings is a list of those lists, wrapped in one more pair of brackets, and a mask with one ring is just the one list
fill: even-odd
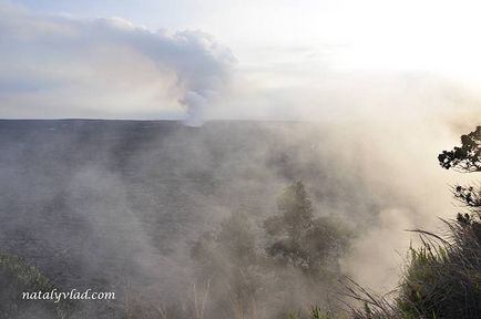
[[(366, 199), (354, 174), (362, 154), (324, 152), (335, 144), (325, 132), (303, 123), (0, 121), (0, 250), (66, 291), (122, 296), (133, 286), (176, 298), (191, 285), (192, 240), (239, 209), (265, 218), (291, 181), (309, 186), (317, 215), (376, 215), (382, 203)], [(109, 311), (96, 305), (95, 316)]]

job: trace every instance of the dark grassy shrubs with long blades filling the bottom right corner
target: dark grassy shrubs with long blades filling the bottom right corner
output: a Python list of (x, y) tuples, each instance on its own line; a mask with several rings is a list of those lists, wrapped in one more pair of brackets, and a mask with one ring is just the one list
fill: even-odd
[(418, 230), (422, 245), (410, 248), (393, 301), (357, 287), (351, 297), (366, 306), (355, 310), (355, 318), (480, 318), (481, 222), (460, 214), (444, 223), (444, 238)]

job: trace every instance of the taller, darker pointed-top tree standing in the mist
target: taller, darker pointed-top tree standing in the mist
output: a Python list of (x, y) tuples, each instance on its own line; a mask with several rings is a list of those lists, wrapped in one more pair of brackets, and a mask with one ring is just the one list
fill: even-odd
[(264, 222), (272, 244), (267, 254), (280, 264), (320, 275), (338, 270), (348, 234), (332, 218), (314, 218), (313, 205), (303, 182), (288, 186), (277, 200), (278, 214)]

